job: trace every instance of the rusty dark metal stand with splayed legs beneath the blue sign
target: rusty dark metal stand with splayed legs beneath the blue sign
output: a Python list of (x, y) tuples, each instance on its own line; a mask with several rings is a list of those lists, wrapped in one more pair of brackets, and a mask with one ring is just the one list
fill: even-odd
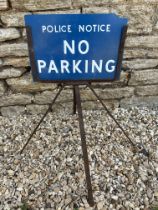
[[(59, 91), (55, 95), (54, 99), (52, 100), (52, 103), (49, 105), (49, 108), (46, 110), (43, 117), (40, 119), (39, 123), (35, 127), (35, 129), (32, 131), (30, 137), (28, 138), (27, 142), (23, 146), (22, 150), (20, 151), (20, 154), (23, 153), (24, 149), (30, 142), (32, 136), (37, 131), (38, 127), (46, 117), (46, 115), (49, 113), (49, 111), (52, 110), (52, 106), (54, 105), (55, 101), (57, 100), (58, 96), (60, 95), (61, 91), (66, 85), (72, 85), (73, 86), (73, 113), (76, 113), (76, 109), (78, 111), (78, 120), (79, 120), (79, 128), (80, 128), (80, 136), (81, 136), (81, 146), (82, 146), (82, 152), (83, 152), (83, 160), (84, 160), (84, 168), (85, 168), (85, 175), (86, 175), (86, 183), (87, 183), (87, 190), (88, 190), (88, 203), (90, 206), (94, 206), (94, 199), (93, 199), (93, 191), (92, 191), (92, 184), (91, 184), (91, 177), (90, 177), (90, 169), (89, 169), (89, 161), (88, 161), (88, 152), (87, 152), (87, 145), (86, 145), (86, 135), (85, 135), (85, 129), (84, 129), (84, 122), (83, 122), (83, 114), (82, 114), (82, 106), (81, 106), (81, 97), (80, 97), (80, 90), (79, 85), (76, 83), (72, 84), (60, 84), (59, 85)], [(81, 84), (83, 85), (83, 84)], [(145, 148), (138, 148), (138, 146), (130, 139), (130, 137), (127, 135), (125, 130), (122, 128), (122, 126), (119, 124), (119, 122), (114, 118), (114, 116), (111, 114), (111, 112), (108, 110), (106, 105), (103, 103), (102, 99), (97, 95), (93, 87), (90, 83), (85, 83), (89, 87), (89, 89), (92, 91), (92, 93), (96, 96), (96, 98), (99, 100), (99, 102), (102, 104), (103, 108), (107, 111), (108, 115), (114, 120), (114, 122), (117, 124), (117, 126), (121, 129), (121, 131), (124, 133), (126, 138), (128, 139), (129, 143), (133, 146), (134, 152), (140, 152), (143, 153), (145, 156), (149, 156), (148, 151), (146, 151)]]

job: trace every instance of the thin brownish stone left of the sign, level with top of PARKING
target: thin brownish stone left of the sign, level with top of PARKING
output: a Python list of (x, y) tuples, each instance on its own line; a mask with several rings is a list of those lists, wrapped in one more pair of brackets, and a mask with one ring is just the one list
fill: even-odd
[(21, 57), (21, 58), (4, 58), (3, 66), (13, 66), (13, 67), (27, 67), (29, 66), (29, 58)]

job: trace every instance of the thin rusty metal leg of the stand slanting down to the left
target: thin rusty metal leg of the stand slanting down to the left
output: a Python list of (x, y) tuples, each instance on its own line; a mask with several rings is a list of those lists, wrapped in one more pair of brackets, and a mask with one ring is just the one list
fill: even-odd
[(36, 125), (36, 127), (34, 128), (34, 130), (31, 133), (30, 137), (28, 138), (27, 142), (25, 143), (25, 145), (23, 146), (22, 150), (20, 151), (20, 154), (23, 153), (24, 149), (26, 148), (26, 146), (30, 142), (32, 136), (36, 133), (36, 130), (38, 129), (38, 127), (40, 126), (40, 124), (42, 123), (42, 121), (44, 120), (44, 118), (46, 117), (46, 115), (48, 114), (48, 112), (51, 110), (53, 104), (55, 103), (55, 101), (58, 98), (59, 94), (61, 93), (62, 89), (63, 89), (63, 87), (60, 87), (60, 89), (59, 89), (58, 93), (56, 94), (56, 96), (54, 97), (52, 103), (49, 105), (49, 107), (46, 110), (45, 114), (42, 116), (42, 118), (40, 119), (39, 123)]

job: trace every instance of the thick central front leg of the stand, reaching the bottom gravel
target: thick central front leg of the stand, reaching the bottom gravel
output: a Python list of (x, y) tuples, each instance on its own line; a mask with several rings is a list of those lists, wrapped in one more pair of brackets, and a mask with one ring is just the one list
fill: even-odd
[(86, 145), (86, 135), (85, 135), (85, 130), (84, 130), (83, 114), (82, 114), (82, 107), (81, 107), (81, 98), (80, 98), (80, 91), (79, 91), (78, 85), (74, 86), (74, 91), (75, 91), (74, 94), (75, 94), (75, 97), (76, 97), (76, 105), (77, 105), (78, 116), (79, 116), (81, 145), (82, 145), (84, 168), (85, 168), (86, 182), (87, 182), (87, 189), (88, 189), (88, 203), (89, 203), (90, 206), (94, 206), (92, 184), (91, 184), (91, 177), (90, 177), (90, 169), (89, 169), (89, 161), (88, 161), (88, 153), (87, 153), (87, 145)]

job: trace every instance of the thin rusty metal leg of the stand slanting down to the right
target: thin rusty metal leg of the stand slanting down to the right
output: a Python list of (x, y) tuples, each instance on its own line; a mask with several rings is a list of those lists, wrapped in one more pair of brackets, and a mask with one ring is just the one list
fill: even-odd
[(104, 109), (107, 111), (108, 115), (114, 120), (114, 122), (117, 124), (117, 126), (120, 128), (120, 130), (123, 132), (123, 134), (126, 136), (126, 138), (128, 139), (128, 141), (131, 143), (131, 145), (134, 148), (134, 151), (139, 151), (140, 153), (144, 154), (145, 156), (149, 157), (149, 152), (145, 149), (145, 148), (138, 148), (137, 145), (130, 139), (130, 137), (127, 135), (127, 133), (125, 132), (125, 130), (123, 129), (123, 127), (119, 124), (119, 122), (115, 119), (115, 117), (111, 114), (111, 112), (108, 110), (108, 108), (106, 107), (106, 105), (103, 103), (102, 99), (97, 95), (97, 93), (95, 92), (95, 90), (92, 88), (91, 85), (88, 84), (88, 87), (90, 88), (90, 90), (93, 92), (93, 94), (96, 96), (96, 98), (99, 100), (99, 102), (102, 104), (102, 106), (104, 107)]

